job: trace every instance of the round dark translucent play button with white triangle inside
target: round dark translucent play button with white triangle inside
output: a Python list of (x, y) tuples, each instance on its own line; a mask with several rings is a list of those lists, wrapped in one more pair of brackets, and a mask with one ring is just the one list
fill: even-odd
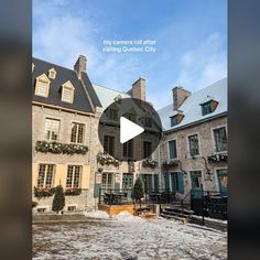
[(151, 159), (162, 138), (161, 120), (151, 104), (118, 97), (99, 118), (98, 138), (104, 158), (126, 162)]

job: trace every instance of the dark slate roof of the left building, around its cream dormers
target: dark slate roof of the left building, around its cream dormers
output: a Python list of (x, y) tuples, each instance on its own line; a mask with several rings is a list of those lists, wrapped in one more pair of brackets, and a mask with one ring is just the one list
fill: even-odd
[[(85, 89), (85, 86), (80, 83), (76, 73), (73, 69), (65, 68), (56, 64), (52, 64), (52, 63), (48, 63), (48, 62), (45, 62), (35, 57), (33, 57), (32, 62), (35, 65), (33, 69), (33, 74), (32, 74), (33, 101), (59, 106), (59, 107), (79, 110), (84, 112), (94, 112), (90, 101), (93, 102), (94, 107), (101, 107), (101, 104), (86, 73), (83, 73), (83, 82), (84, 82), (84, 85), (86, 86), (86, 89)], [(55, 68), (56, 77), (55, 79), (50, 78), (51, 85), (50, 85), (48, 97), (36, 96), (34, 94), (36, 77), (39, 77), (42, 74), (48, 75), (50, 68)], [(69, 80), (75, 87), (73, 104), (62, 101), (61, 87), (67, 80)], [(86, 91), (88, 93), (90, 100)]]

